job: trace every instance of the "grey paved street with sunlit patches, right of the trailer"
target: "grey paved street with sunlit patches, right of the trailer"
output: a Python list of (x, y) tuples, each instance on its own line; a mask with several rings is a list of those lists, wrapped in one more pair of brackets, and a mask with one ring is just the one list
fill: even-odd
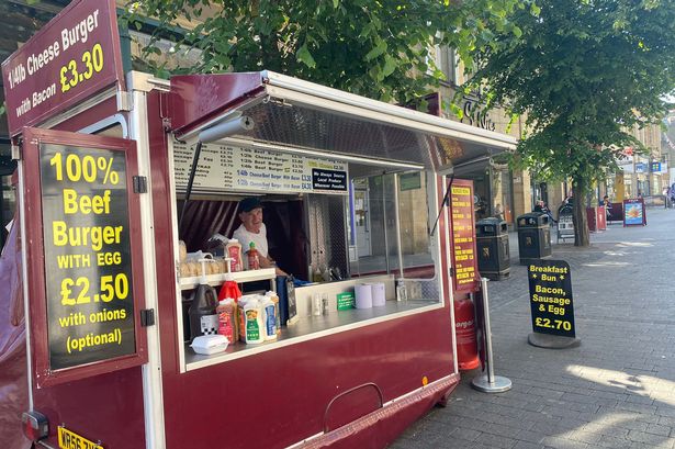
[(392, 448), (675, 448), (675, 210), (648, 209), (648, 226), (611, 224), (590, 246), (555, 243), (572, 269), (580, 347), (530, 346), (527, 268), (509, 235), (510, 278), (488, 283), (494, 372), (505, 393), (471, 388), (463, 372)]

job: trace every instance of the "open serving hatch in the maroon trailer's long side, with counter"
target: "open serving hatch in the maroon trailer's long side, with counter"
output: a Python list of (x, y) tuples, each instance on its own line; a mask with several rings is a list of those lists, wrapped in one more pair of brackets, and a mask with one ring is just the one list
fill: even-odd
[[(429, 237), (436, 217), (436, 213), (429, 213), (429, 201), (438, 194), (432, 188), (434, 175), (408, 168), (383, 172), (382, 164), (368, 159), (204, 144), (193, 194), (185, 204), (193, 148), (173, 141), (170, 151), (176, 237), (183, 240), (180, 245), (177, 242), (181, 251), (175, 255), (183, 370), (270, 350), (291, 339), (319, 338), (441, 306), (435, 268), (438, 258), (432, 257), (438, 248)], [(273, 268), (234, 270), (227, 263), (210, 263), (206, 282), (220, 290), (225, 281), (234, 280), (249, 299), (265, 294), (262, 290), (275, 290), (280, 330), (258, 346), (240, 334), (222, 353), (196, 353), (190, 344), (199, 326), (190, 310), (202, 280), (194, 258), (206, 251), (221, 261), (228, 244), (221, 251), (221, 239), (215, 242), (210, 236), (222, 234), (230, 242), (233, 229), (239, 225), (238, 201), (251, 195), (265, 210), (268, 255), (296, 281), (275, 277)], [(182, 213), (178, 211), (183, 209), (180, 224)], [(215, 245), (209, 247), (209, 240)], [(357, 290), (367, 285), (375, 285), (371, 288), (372, 306), (362, 307)], [(400, 289), (405, 292), (401, 301)]]

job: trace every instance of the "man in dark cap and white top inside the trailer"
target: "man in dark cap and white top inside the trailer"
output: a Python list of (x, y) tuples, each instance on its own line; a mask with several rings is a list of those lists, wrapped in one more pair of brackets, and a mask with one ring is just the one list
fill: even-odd
[[(274, 260), (268, 254), (267, 227), (262, 223), (262, 204), (260, 200), (256, 197), (245, 198), (239, 201), (237, 213), (241, 224), (235, 229), (232, 238), (239, 240), (241, 252), (247, 255), (252, 242), (258, 250), (260, 268), (273, 267), (277, 270), (277, 276), (288, 276), (277, 267)], [(246, 266), (246, 257), (244, 257), (244, 265)]]

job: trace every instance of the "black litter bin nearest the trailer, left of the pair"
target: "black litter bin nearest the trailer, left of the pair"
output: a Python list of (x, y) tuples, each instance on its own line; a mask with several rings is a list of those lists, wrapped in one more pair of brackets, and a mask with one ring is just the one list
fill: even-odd
[(508, 250), (508, 226), (499, 218), (483, 218), (475, 224), (479, 271), (493, 281), (500, 281), (510, 274)]

